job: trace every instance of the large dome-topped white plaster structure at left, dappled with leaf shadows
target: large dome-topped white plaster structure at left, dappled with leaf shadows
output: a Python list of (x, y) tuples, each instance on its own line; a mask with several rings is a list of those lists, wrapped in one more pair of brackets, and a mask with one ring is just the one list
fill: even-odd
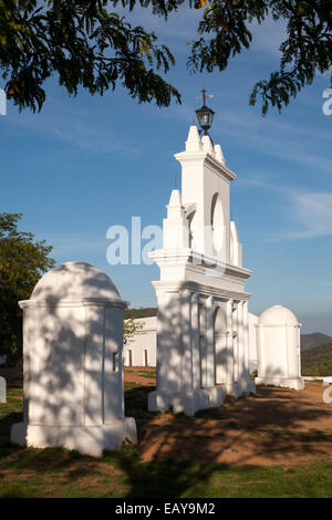
[(87, 263), (68, 262), (48, 272), (20, 306), (24, 418), (12, 427), (11, 440), (63, 443), (91, 455), (117, 446), (127, 431), (135, 440), (133, 420), (129, 428), (124, 420), (126, 303), (110, 278)]

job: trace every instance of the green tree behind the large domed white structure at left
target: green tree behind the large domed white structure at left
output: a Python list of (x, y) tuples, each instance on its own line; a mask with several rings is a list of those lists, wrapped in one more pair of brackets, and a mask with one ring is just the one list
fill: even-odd
[(41, 278), (54, 266), (51, 246), (35, 241), (30, 232), (17, 229), (21, 214), (0, 214), (0, 354), (14, 364), (22, 355), (22, 311)]

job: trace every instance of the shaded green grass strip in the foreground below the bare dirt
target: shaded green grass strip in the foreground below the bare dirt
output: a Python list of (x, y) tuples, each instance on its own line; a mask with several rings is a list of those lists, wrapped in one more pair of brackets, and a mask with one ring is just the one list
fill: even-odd
[[(143, 387), (137, 382), (125, 384), (131, 399), (126, 403), (127, 415), (136, 414), (137, 420), (149, 414)], [(8, 439), (11, 424), (21, 420), (21, 408), (22, 391), (10, 388), (8, 403), (0, 404), (0, 497), (332, 496), (331, 460), (290, 467), (227, 466), (174, 459), (144, 462), (139, 447), (128, 444), (120, 453), (105, 453), (100, 459), (61, 448), (17, 448), (3, 439)]]

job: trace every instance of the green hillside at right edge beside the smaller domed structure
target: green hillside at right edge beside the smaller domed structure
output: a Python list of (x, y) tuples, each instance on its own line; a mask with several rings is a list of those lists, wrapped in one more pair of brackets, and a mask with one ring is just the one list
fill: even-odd
[(301, 352), (302, 375), (332, 375), (332, 342)]

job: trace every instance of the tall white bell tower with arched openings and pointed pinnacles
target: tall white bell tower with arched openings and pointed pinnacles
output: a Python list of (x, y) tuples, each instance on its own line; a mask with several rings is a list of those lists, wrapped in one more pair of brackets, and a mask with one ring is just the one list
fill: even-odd
[(160, 280), (153, 282), (158, 302), (157, 388), (148, 406), (194, 415), (220, 406), (225, 394), (255, 391), (250, 294), (245, 291), (251, 271), (242, 267), (230, 221), (229, 186), (236, 175), (226, 166), (220, 145), (212, 145), (207, 131), (200, 138), (194, 125), (186, 149), (175, 158), (181, 165), (181, 193), (173, 190), (164, 247), (151, 253)]

